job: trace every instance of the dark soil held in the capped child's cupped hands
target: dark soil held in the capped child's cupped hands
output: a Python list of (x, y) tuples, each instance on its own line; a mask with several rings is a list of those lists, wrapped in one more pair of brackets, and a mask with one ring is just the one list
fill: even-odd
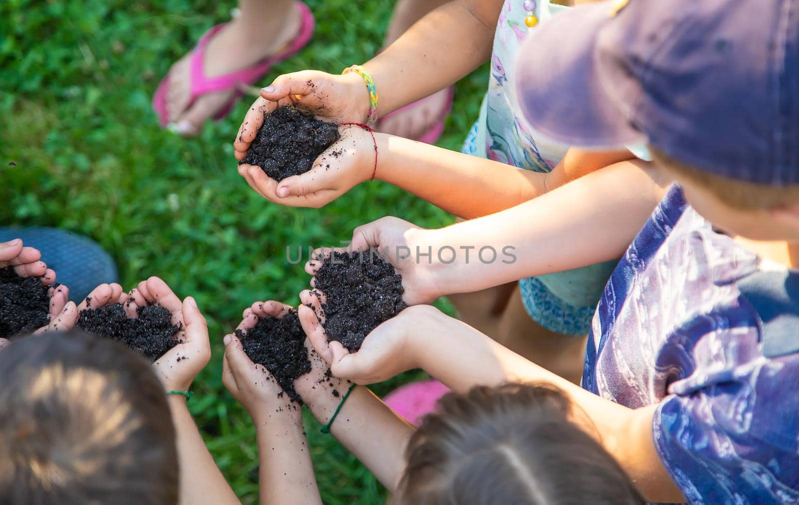
[(378, 324), (407, 307), (402, 277), (376, 253), (333, 252), (315, 282), (327, 298), (322, 310), (328, 340), (338, 340), (350, 352), (357, 352)]

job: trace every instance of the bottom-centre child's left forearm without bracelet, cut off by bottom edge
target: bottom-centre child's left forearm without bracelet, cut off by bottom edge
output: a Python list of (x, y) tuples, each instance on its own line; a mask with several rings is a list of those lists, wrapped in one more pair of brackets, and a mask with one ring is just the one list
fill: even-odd
[(302, 423), (288, 422), (288, 416), (280, 414), (253, 421), (258, 439), (261, 505), (322, 503)]

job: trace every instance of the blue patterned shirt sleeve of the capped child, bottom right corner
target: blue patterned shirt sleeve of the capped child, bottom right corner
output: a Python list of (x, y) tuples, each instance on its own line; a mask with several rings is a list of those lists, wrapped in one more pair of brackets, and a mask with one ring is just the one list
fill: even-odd
[(799, 356), (711, 361), (655, 412), (666, 470), (690, 503), (799, 503)]

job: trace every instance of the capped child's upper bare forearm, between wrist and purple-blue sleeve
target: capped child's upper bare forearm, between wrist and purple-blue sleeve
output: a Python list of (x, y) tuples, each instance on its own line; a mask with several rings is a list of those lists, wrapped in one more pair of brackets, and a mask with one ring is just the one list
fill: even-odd
[[(649, 164), (623, 161), (503, 212), (424, 231), (418, 242), (432, 254), (419, 262), (430, 265), (438, 290), (431, 294), (478, 291), (618, 258), (666, 185)], [(480, 255), (483, 248), (492, 249)], [(453, 251), (455, 260), (445, 263)]]

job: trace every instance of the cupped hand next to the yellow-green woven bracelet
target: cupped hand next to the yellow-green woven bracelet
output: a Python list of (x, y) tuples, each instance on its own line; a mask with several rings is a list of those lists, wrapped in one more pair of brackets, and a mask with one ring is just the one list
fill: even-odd
[(284, 74), (272, 85), (261, 89), (260, 98), (241, 121), (236, 141), (236, 159), (247, 156), (247, 149), (255, 139), (264, 116), (281, 105), (298, 108), (337, 123), (364, 123), (369, 113), (369, 92), (358, 74), (326, 74), (318, 70), (303, 70)]

